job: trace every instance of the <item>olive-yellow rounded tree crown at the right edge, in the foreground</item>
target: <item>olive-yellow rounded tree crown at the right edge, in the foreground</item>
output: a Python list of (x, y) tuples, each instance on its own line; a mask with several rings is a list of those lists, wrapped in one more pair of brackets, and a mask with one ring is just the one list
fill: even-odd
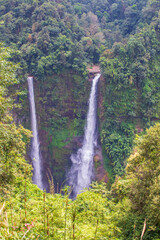
[[(155, 191), (155, 194), (158, 193), (158, 189), (153, 189), (157, 188), (156, 185), (158, 183), (157, 181), (159, 181), (160, 174), (159, 131), (160, 124), (156, 124), (156, 126), (147, 130), (147, 134), (143, 138), (139, 137), (137, 139), (138, 147), (135, 153), (128, 159), (126, 169), (127, 177), (133, 180), (130, 187), (132, 186), (131, 192), (134, 192), (134, 196), (131, 196), (131, 200), (134, 208), (140, 212), (147, 212), (147, 207), (149, 207), (151, 211), (152, 207), (150, 206), (150, 201), (154, 202), (154, 194), (152, 195), (151, 192)], [(151, 215), (151, 212), (149, 215), (150, 219), (152, 219), (153, 215)], [(155, 217), (155, 221), (159, 221), (157, 217)]]

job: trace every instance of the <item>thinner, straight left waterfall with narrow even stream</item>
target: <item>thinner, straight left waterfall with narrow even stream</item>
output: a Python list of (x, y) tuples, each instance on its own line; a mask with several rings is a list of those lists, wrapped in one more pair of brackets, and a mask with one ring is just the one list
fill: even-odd
[(36, 108), (34, 101), (33, 77), (28, 77), (29, 102), (31, 112), (31, 126), (33, 138), (31, 141), (31, 159), (33, 163), (33, 182), (40, 189), (43, 189), (42, 175), (41, 175), (41, 157), (39, 150), (39, 139), (37, 131)]

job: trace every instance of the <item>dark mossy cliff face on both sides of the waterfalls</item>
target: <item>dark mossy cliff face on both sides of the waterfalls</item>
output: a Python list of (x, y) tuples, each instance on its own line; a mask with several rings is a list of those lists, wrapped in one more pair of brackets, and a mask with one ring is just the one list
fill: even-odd
[[(97, 73), (97, 68), (96, 72), (92, 70), (89, 71), (87, 79), (71, 71), (46, 77), (43, 81), (34, 79), (43, 181), (47, 191), (48, 178), (51, 175), (56, 191), (60, 190), (63, 182), (66, 183), (66, 171), (71, 165), (70, 156), (81, 147), (91, 88), (90, 80)], [(27, 81), (24, 85), (27, 93)], [(108, 82), (103, 76), (100, 78), (98, 125), (101, 146), (96, 149), (94, 158), (97, 181), (107, 182), (115, 173), (123, 173), (125, 159), (133, 147), (134, 134), (143, 131), (144, 124), (138, 114), (141, 101), (138, 93), (135, 97), (134, 87), (130, 88), (131, 90), (127, 88), (120, 92), (115, 90), (116, 85)], [(129, 103), (126, 99), (129, 99)], [(17, 112), (19, 122), (31, 129), (27, 94), (23, 99), (19, 99), (19, 102), (22, 102), (22, 110)], [(137, 114), (128, 116), (133, 104)], [(31, 162), (29, 149), (30, 146), (27, 159)]]

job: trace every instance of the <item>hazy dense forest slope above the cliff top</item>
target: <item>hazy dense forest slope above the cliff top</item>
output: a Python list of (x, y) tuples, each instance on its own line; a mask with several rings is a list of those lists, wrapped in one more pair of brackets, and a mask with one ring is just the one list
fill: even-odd
[(30, 74), (43, 77), (62, 67), (84, 71), (105, 48), (123, 42), (158, 15), (158, 1), (3, 1), (0, 40), (21, 50)]

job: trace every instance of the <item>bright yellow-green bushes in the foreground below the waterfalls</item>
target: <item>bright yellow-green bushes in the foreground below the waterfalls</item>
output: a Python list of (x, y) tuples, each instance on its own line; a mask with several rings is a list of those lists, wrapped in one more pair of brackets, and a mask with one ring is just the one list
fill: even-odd
[(2, 238), (117, 239), (114, 205), (100, 194), (87, 191), (72, 201), (67, 189), (61, 196), (45, 194), (28, 181), (17, 181), (16, 186), (0, 216)]

